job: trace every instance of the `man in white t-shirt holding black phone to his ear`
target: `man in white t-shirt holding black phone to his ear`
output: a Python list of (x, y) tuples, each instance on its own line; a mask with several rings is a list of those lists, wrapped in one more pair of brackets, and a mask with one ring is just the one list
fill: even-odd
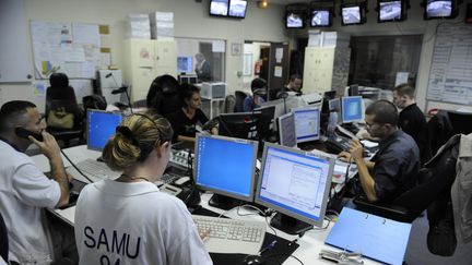
[[(11, 264), (51, 264), (61, 255), (62, 245), (56, 246), (52, 238), (62, 236), (49, 229), (44, 208), (69, 203), (70, 177), (58, 143), (45, 128), (32, 103), (13, 100), (0, 109), (0, 213), (9, 230)], [(33, 143), (49, 160), (50, 179), (24, 154)]]

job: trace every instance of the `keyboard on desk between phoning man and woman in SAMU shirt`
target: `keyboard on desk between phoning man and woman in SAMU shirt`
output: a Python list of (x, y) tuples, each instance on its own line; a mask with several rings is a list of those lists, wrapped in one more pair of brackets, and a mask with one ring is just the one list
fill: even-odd
[[(97, 161), (95, 159), (85, 159), (75, 164), (75, 166), (91, 180), (101, 181), (104, 179), (116, 179), (120, 176), (120, 172), (113, 171), (107, 167), (105, 162)], [(69, 167), (67, 171), (72, 174), (75, 179), (82, 180), (83, 177), (73, 168)], [(88, 181), (87, 181), (88, 182)]]

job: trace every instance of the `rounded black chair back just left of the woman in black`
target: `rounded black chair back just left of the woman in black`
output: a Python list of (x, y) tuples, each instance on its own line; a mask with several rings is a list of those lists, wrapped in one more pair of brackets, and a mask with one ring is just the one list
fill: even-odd
[(177, 111), (181, 106), (179, 96), (180, 85), (174, 76), (164, 74), (157, 76), (151, 84), (146, 96), (148, 108), (166, 117)]

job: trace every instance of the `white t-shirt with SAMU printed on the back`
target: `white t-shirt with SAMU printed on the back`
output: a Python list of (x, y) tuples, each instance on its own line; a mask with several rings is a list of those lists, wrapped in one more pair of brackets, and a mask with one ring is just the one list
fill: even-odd
[(150, 182), (86, 185), (74, 222), (80, 264), (212, 264), (184, 203)]

